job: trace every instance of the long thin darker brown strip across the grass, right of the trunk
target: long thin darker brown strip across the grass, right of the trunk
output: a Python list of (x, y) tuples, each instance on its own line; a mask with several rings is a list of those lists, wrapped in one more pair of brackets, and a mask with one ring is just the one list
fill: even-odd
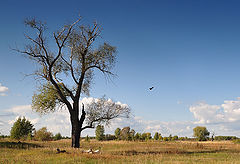
[(115, 155), (157, 155), (157, 154), (204, 154), (204, 153), (218, 153), (226, 152), (226, 150), (201, 150), (201, 151), (184, 151), (184, 150), (166, 150), (166, 151), (121, 151), (116, 152)]

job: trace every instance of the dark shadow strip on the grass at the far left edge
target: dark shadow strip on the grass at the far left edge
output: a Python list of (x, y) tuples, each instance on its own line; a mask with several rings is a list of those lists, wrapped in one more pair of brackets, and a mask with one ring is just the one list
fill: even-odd
[(25, 142), (0, 142), (0, 148), (14, 148), (14, 149), (29, 149), (29, 148), (38, 148), (42, 147), (33, 143)]

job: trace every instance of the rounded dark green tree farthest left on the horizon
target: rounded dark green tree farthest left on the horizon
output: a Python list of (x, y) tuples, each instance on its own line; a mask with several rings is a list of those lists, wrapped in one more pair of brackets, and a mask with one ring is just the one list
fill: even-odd
[(27, 139), (29, 135), (32, 135), (34, 128), (29, 120), (25, 117), (19, 117), (13, 124), (10, 137), (12, 139)]

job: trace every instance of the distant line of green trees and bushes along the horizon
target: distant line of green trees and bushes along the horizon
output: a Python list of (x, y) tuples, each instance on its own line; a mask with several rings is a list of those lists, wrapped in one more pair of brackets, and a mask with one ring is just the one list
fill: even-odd
[[(0, 133), (1, 134), (1, 133)], [(155, 132), (154, 135), (150, 132), (139, 133), (129, 126), (122, 129), (117, 128), (114, 134), (105, 134), (104, 126), (98, 125), (95, 130), (95, 137), (81, 137), (85, 141), (96, 139), (98, 141), (110, 141), (110, 140), (123, 140), (123, 141), (186, 141), (186, 140), (236, 140), (236, 136), (211, 136), (209, 137), (209, 131), (206, 127), (197, 126), (193, 129), (193, 137), (179, 137), (177, 135), (162, 136), (160, 132)], [(11, 138), (16, 140), (36, 140), (36, 141), (52, 141), (60, 139), (70, 139), (70, 137), (63, 137), (61, 133), (53, 135), (52, 132), (48, 131), (46, 127), (42, 127), (39, 130), (35, 130), (34, 125), (27, 120), (25, 117), (19, 117), (13, 124), (10, 136), (0, 135), (0, 138)]]

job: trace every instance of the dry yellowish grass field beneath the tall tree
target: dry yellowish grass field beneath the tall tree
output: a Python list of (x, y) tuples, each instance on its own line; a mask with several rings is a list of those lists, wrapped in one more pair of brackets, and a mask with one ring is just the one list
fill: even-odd
[[(70, 144), (0, 140), (0, 163), (240, 163), (240, 145), (231, 141), (82, 141), (79, 149)], [(57, 154), (56, 148), (67, 152)], [(82, 152), (90, 148), (101, 153)]]

